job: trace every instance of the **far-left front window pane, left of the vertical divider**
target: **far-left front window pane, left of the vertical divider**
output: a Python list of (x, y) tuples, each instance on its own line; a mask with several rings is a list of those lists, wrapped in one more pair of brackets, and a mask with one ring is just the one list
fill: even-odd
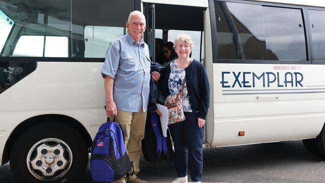
[[(1, 2), (0, 10), (3, 12), (1, 16), (7, 15), (14, 24), (12, 27), (7, 25), (5, 35), (2, 33), (0, 35), (2, 42), (3, 38), (5, 39), (1, 51), (3, 56), (67, 56), (70, 14), (68, 0), (33, 1), (33, 3), (20, 0), (11, 1), (10, 4), (2, 0)], [(51, 37), (46, 41), (47, 36)], [(64, 41), (60, 41), (61, 37), (65, 37)], [(48, 47), (53, 41), (58, 44), (57, 47), (64, 48), (63, 54), (60, 54), (61, 50), (55, 50), (57, 48), (55, 45)], [(45, 43), (51, 49), (44, 50)]]

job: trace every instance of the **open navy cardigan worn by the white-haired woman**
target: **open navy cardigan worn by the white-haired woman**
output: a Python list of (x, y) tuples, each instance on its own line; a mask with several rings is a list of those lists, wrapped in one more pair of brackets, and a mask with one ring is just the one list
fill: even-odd
[[(209, 83), (205, 68), (202, 63), (193, 59), (191, 64), (185, 68), (186, 87), (189, 94), (189, 103), (193, 112), (198, 112), (198, 117), (206, 119), (209, 107)], [(170, 64), (160, 70), (159, 88), (161, 94), (167, 97), (170, 94), (168, 88), (168, 78), (170, 74)]]

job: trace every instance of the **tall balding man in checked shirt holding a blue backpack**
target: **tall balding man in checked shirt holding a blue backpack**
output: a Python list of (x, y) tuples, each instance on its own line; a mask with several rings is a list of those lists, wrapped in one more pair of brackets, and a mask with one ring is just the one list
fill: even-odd
[[(140, 170), (151, 63), (148, 45), (142, 39), (146, 28), (144, 15), (140, 11), (132, 11), (125, 25), (128, 33), (111, 42), (101, 69), (105, 108), (107, 117), (115, 116), (115, 121), (121, 125), (126, 151), (133, 161), (134, 175), (129, 176), (128, 182), (147, 183), (136, 176)], [(160, 76), (158, 72), (151, 75), (154, 80)], [(116, 182), (125, 182), (125, 178)]]

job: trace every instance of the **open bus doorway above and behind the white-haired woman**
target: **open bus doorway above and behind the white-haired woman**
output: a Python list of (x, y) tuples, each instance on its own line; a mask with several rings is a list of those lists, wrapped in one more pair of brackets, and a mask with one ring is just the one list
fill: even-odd
[(151, 61), (163, 65), (170, 62), (165, 53), (163, 53), (165, 56), (163, 61), (157, 56), (156, 39), (162, 39), (164, 43), (174, 42), (178, 34), (186, 33), (191, 36), (194, 44), (190, 57), (204, 63), (203, 14), (205, 8), (189, 6), (190, 2), (187, 4), (143, 3), (143, 13), (147, 24), (144, 41), (148, 44)]

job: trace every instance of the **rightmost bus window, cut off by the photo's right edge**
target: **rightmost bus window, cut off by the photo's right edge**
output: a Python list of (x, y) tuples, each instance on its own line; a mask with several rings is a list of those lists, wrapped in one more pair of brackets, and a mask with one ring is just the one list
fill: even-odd
[(325, 60), (325, 11), (308, 10), (314, 60)]

